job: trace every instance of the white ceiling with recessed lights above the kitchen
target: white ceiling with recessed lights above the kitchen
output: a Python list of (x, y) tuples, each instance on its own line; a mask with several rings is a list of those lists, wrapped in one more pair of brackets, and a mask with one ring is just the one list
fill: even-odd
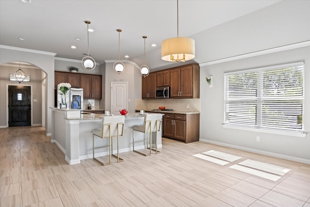
[[(177, 36), (176, 0), (23, 1), (0, 0), (0, 45), (54, 52), (56, 57), (81, 60), (83, 53), (87, 53), (84, 21), (90, 20), (89, 28), (94, 32), (89, 32), (89, 48), (97, 63), (118, 59), (116, 29), (123, 30), (120, 59), (140, 59), (143, 63), (143, 35), (147, 36), (146, 62), (151, 58), (160, 60), (160, 56), (148, 57), (148, 52), (160, 51), (163, 40)], [(277, 2), (179, 0), (179, 36), (190, 37)]]

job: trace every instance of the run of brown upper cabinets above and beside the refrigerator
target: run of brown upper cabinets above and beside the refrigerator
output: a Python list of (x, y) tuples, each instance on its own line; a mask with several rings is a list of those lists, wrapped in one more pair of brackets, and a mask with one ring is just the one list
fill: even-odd
[(55, 86), (62, 82), (70, 83), (73, 88), (83, 88), (84, 98), (102, 98), (101, 75), (55, 71)]

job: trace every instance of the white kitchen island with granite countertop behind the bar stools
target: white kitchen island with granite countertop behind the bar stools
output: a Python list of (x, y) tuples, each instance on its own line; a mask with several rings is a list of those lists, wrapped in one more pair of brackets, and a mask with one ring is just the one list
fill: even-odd
[[(77, 116), (67, 117), (69, 109), (52, 110), (52, 137), (51, 142), (57, 146), (65, 154), (65, 160), (69, 164), (80, 163), (81, 159), (93, 158), (93, 129), (102, 127), (102, 116), (104, 114), (80, 113)], [(76, 110), (75, 110), (76, 111)], [(80, 112), (80, 111), (79, 111)], [(132, 127), (134, 125), (142, 125), (144, 115), (139, 113), (127, 113), (124, 122), (124, 135), (119, 139), (119, 152), (132, 151)], [(155, 141), (155, 132), (152, 134)], [(135, 140), (143, 139), (143, 133), (135, 133)], [(116, 140), (113, 138), (113, 154), (116, 153)], [(108, 139), (95, 139), (95, 145), (108, 144)], [(161, 131), (157, 132), (157, 147), (162, 147)], [(135, 149), (144, 149), (144, 143), (135, 144)], [(95, 157), (109, 155), (108, 147), (97, 150)]]

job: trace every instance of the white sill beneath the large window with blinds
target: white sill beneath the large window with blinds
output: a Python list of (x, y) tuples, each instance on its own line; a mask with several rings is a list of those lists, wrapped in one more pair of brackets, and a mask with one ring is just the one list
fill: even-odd
[(247, 131), (257, 131), (257, 132), (263, 132), (263, 133), (269, 133), (269, 134), (279, 134), (279, 135), (285, 135), (285, 136), (291, 136), (291, 137), (305, 138), (307, 135), (307, 133), (277, 131), (277, 130), (270, 130), (270, 129), (263, 129), (263, 128), (240, 127), (240, 126), (224, 125), (224, 124), (222, 124), (222, 126), (224, 128), (233, 128), (233, 129), (247, 130)]

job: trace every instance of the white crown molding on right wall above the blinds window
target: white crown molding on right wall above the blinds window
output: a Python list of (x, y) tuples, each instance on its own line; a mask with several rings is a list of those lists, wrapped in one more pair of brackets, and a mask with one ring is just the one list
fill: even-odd
[(307, 47), (307, 46), (310, 46), (310, 40), (307, 40), (304, 42), (299, 42), (299, 43), (294, 43), (294, 44), (290, 44), (290, 45), (280, 46), (277, 48), (269, 48), (269, 49), (264, 49), (264, 50), (260, 50), (260, 51), (256, 51), (256, 52), (250, 52), (250, 53), (246, 53), (246, 54), (242, 54), (242, 55), (236, 55), (233, 57), (223, 58), (223, 59), (219, 59), (219, 60), (215, 60), (215, 61), (209, 61), (209, 62), (201, 63), (201, 64), (199, 64), (199, 66), (202, 67), (202, 66), (211, 65), (211, 64), (225, 63), (225, 62), (229, 62), (229, 61), (235, 61), (235, 60), (240, 60), (240, 59), (244, 59), (244, 58), (250, 58), (250, 57), (255, 57), (255, 56), (259, 56), (259, 55), (265, 55), (265, 54), (270, 54), (270, 53), (274, 53), (274, 52), (285, 51), (285, 50), (289, 50), (289, 49), (303, 48), (303, 47)]

